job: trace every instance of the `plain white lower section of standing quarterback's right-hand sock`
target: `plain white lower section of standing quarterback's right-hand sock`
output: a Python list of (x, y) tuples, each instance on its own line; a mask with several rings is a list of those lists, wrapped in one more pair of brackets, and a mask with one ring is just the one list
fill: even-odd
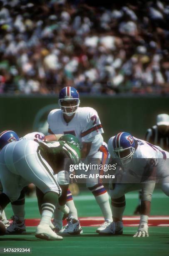
[(103, 213), (104, 219), (110, 220), (112, 222), (113, 221), (112, 210), (111, 210), (110, 203), (109, 203), (108, 193), (105, 192), (102, 195), (95, 196), (95, 199)]

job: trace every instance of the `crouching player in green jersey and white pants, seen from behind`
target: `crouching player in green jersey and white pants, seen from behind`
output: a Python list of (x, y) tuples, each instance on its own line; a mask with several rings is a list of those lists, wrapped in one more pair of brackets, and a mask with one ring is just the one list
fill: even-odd
[[(4, 146), (0, 153), (0, 180), (3, 187), (3, 193), (0, 195), (0, 215), (9, 202), (20, 197), (23, 187), (30, 183), (35, 184), (44, 194), (41, 220), (35, 236), (46, 240), (62, 240), (62, 237), (50, 228), (51, 218), (61, 195), (53, 168), (57, 157), (71, 159), (75, 164), (79, 161), (80, 151), (76, 146), (62, 141), (37, 143), (30, 140), (19, 141), (17, 136), (13, 142)], [(0, 230), (3, 234), (2, 222)]]

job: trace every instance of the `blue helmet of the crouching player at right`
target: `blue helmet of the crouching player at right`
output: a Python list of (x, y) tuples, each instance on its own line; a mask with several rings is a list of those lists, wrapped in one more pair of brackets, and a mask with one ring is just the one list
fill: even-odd
[(122, 164), (128, 164), (135, 152), (136, 143), (130, 133), (118, 133), (113, 139), (113, 151), (117, 154)]

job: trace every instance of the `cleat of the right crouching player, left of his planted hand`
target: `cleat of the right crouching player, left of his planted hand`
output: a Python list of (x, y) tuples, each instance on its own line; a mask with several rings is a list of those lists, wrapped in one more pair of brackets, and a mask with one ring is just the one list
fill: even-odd
[(123, 223), (122, 221), (110, 223), (104, 230), (99, 232), (100, 235), (122, 235)]

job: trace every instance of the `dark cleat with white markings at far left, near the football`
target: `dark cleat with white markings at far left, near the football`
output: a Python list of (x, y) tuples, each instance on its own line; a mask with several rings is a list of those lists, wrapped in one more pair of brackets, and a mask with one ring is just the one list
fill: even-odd
[(6, 234), (25, 234), (26, 233), (26, 226), (25, 220), (20, 220), (17, 216), (12, 216), (11, 220), (13, 222), (10, 226), (6, 229)]

